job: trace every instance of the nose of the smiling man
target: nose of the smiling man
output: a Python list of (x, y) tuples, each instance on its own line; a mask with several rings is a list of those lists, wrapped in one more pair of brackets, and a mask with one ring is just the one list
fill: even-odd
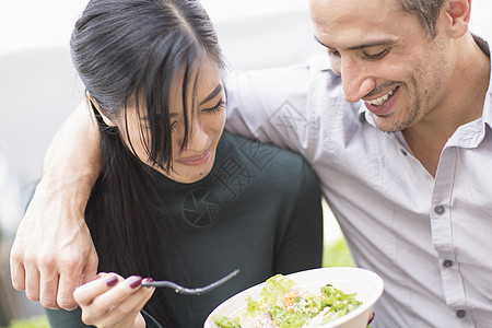
[(340, 73), (343, 93), (350, 103), (359, 102), (376, 86), (374, 79), (364, 70), (363, 63), (355, 60), (341, 59)]

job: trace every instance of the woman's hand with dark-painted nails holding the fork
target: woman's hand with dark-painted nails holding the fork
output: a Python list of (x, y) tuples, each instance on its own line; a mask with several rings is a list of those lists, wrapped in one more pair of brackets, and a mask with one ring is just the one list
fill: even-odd
[(95, 280), (81, 285), (73, 297), (82, 308), (82, 321), (98, 328), (145, 327), (140, 311), (155, 288), (142, 288), (141, 283), (142, 278), (138, 276), (124, 279), (116, 273), (99, 273)]

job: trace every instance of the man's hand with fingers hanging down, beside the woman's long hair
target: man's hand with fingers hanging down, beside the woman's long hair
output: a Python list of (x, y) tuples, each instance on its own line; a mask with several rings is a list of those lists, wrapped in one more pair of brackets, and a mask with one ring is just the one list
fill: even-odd
[(75, 197), (63, 194), (74, 187), (51, 188), (39, 183), (17, 229), (10, 261), (12, 284), (45, 307), (73, 309), (73, 291), (95, 276), (97, 254), (84, 208), (70, 203)]

